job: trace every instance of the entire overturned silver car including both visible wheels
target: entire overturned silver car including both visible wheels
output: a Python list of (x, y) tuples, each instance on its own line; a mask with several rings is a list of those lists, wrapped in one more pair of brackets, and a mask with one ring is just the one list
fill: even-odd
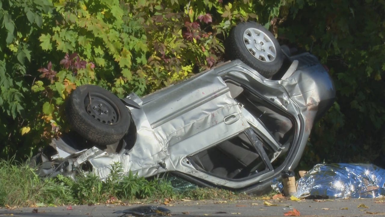
[(298, 164), (335, 88), (315, 56), (283, 52), (258, 24), (238, 24), (229, 40), (234, 60), (144, 97), (79, 86), (66, 107), (74, 132), (52, 142), (39, 174), (104, 179), (119, 162), (144, 177), (168, 172), (201, 186), (269, 190)]

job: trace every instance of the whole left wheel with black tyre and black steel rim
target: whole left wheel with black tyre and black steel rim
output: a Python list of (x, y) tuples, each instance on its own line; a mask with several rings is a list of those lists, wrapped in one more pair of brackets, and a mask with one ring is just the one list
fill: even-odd
[(118, 142), (131, 120), (127, 107), (116, 95), (95, 85), (77, 87), (67, 100), (65, 113), (72, 130), (98, 145)]

